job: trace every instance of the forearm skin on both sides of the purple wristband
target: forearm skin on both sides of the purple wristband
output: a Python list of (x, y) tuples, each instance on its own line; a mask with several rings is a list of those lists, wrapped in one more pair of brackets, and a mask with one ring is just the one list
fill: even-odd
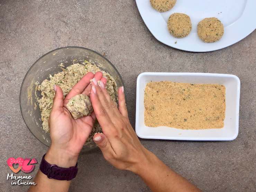
[[(68, 156), (66, 153), (59, 153), (53, 148), (49, 148), (45, 155), (45, 160), (50, 164), (55, 164), (60, 167), (75, 166), (77, 162), (76, 157)], [(28, 191), (30, 192), (56, 192), (56, 191), (68, 191), (71, 181), (60, 181), (55, 179), (49, 179), (47, 175), (40, 170), (37, 172), (34, 182), (36, 185), (31, 185)]]

